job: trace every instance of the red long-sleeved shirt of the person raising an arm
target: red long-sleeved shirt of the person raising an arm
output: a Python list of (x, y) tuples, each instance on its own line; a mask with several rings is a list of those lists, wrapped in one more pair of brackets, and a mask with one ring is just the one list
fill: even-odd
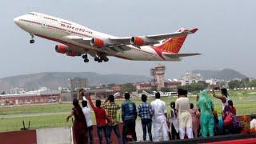
[(106, 126), (106, 111), (101, 107), (94, 106), (94, 103), (91, 101), (90, 97), (88, 98), (91, 108), (94, 110), (95, 118), (98, 126)]

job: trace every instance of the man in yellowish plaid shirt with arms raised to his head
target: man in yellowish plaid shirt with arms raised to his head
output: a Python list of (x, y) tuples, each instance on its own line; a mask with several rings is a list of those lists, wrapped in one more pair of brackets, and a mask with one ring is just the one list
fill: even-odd
[(121, 139), (121, 134), (118, 127), (118, 118), (117, 118), (117, 112), (120, 109), (120, 106), (114, 103), (114, 95), (110, 95), (109, 98), (106, 99), (102, 107), (105, 108), (106, 114), (110, 118), (110, 123), (108, 126), (110, 136), (111, 136), (112, 129), (114, 129), (114, 134), (118, 138), (118, 143), (121, 144), (122, 139)]

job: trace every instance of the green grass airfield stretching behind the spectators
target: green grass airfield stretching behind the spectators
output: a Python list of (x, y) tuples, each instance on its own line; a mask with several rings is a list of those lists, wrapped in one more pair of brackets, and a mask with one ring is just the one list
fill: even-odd
[[(174, 102), (175, 99), (176, 98), (162, 97), (162, 100), (166, 102), (168, 112), (170, 112), (170, 102)], [(218, 112), (220, 112), (222, 110), (222, 104), (220, 100), (218, 100), (217, 98), (212, 99), (214, 100), (214, 108), (218, 110)], [(232, 93), (231, 99), (234, 101), (234, 106), (237, 108), (238, 115), (256, 114), (256, 94)], [(136, 103), (136, 105), (141, 103), (140, 98), (132, 100)], [(152, 102), (153, 100), (154, 98), (148, 98), (148, 102)], [(123, 100), (117, 100), (116, 102), (121, 105)], [(190, 97), (190, 102), (193, 102), (195, 104), (195, 97)], [(26, 125), (28, 121), (30, 121), (31, 129), (37, 129), (42, 127), (71, 126), (71, 120), (70, 122), (66, 122), (66, 115), (69, 114), (71, 108), (71, 102), (45, 105), (0, 107), (0, 131), (20, 130), (20, 128), (22, 128), (22, 120), (25, 120)], [(15, 118), (15, 115), (17, 114), (35, 114), (39, 116), (26, 116)], [(121, 110), (118, 110), (119, 119), (120, 114)], [(92, 113), (91, 115), (95, 123), (94, 113)], [(14, 118), (1, 118), (1, 116), (13, 116)]]

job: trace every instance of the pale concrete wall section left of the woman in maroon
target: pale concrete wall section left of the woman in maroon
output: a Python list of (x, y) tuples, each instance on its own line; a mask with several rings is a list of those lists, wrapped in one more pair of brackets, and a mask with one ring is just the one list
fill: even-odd
[(72, 143), (70, 127), (45, 128), (36, 130), (37, 143)]

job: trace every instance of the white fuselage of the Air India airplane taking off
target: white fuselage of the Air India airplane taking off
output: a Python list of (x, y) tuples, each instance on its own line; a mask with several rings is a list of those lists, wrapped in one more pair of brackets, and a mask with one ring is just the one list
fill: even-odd
[[(130, 50), (111, 51), (106, 48), (98, 48), (91, 46), (90, 43), (74, 42), (67, 38), (68, 36), (78, 36), (82, 38), (117, 38), (109, 34), (103, 34), (98, 31), (90, 30), (86, 26), (79, 25), (74, 22), (66, 21), (62, 18), (55, 18), (46, 14), (30, 13), (14, 18), (14, 22), (26, 30), (30, 34), (38, 37), (50, 39), (56, 42), (61, 42), (66, 46), (70, 46), (72, 50), (78, 51), (81, 54), (86, 54), (89, 51), (104, 53), (109, 56), (125, 58), (138, 61), (180, 61), (180, 58), (161, 57), (151, 46), (140, 46), (139, 48), (133, 45), (129, 46)], [(118, 49), (118, 48), (117, 48)]]

